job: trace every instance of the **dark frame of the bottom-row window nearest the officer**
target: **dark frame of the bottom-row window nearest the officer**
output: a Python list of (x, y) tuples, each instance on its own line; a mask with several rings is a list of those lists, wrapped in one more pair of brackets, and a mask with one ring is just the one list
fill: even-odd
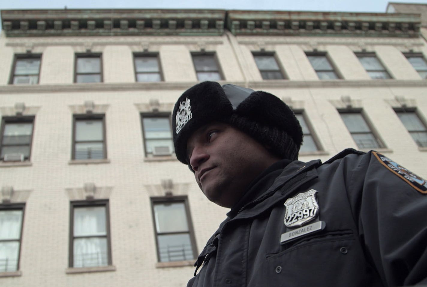
[(187, 216), (187, 226), (188, 231), (185, 233), (188, 233), (190, 236), (190, 243), (191, 243), (191, 250), (193, 251), (193, 258), (189, 260), (196, 259), (198, 256), (197, 252), (197, 246), (196, 246), (196, 237), (194, 233), (194, 227), (193, 227), (193, 221), (191, 220), (191, 213), (190, 213), (190, 205), (188, 204), (188, 197), (186, 195), (179, 195), (179, 196), (155, 196), (150, 197), (150, 205), (151, 205), (151, 213), (152, 213), (152, 219), (153, 219), (153, 231), (155, 236), (155, 242), (156, 242), (156, 253), (157, 253), (157, 262), (158, 263), (166, 263), (166, 262), (180, 262), (183, 260), (176, 260), (176, 261), (161, 261), (160, 257), (160, 250), (159, 250), (159, 243), (158, 243), (158, 235), (163, 234), (183, 234), (184, 232), (163, 232), (158, 233), (156, 228), (156, 219), (155, 219), (155, 213), (154, 213), (154, 206), (155, 204), (161, 204), (161, 203), (174, 203), (174, 202), (183, 202), (185, 207), (185, 215)]

